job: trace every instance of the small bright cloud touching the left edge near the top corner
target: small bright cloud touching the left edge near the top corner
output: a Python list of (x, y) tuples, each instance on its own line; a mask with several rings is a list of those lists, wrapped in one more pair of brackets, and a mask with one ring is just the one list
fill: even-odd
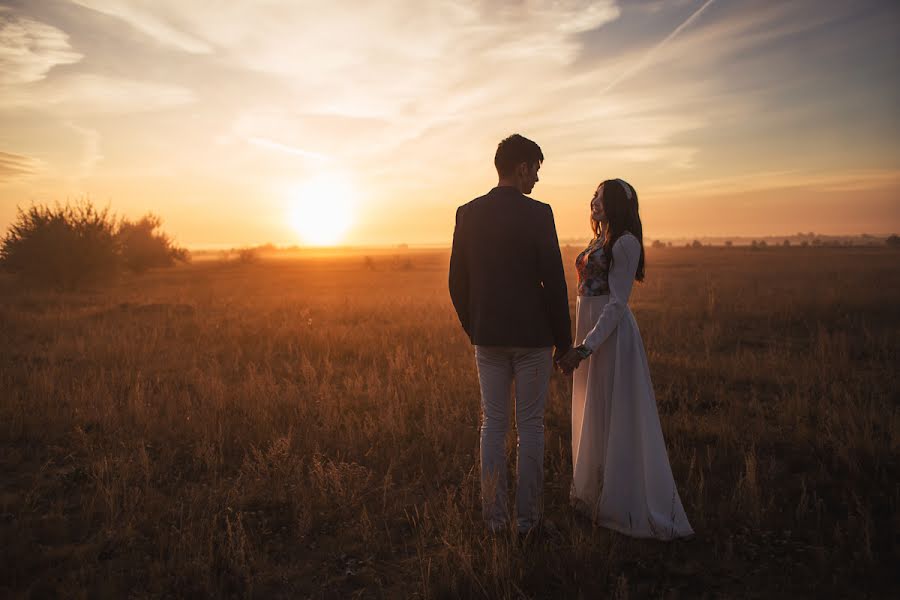
[(56, 65), (82, 58), (63, 31), (0, 8), (0, 84), (40, 81)]

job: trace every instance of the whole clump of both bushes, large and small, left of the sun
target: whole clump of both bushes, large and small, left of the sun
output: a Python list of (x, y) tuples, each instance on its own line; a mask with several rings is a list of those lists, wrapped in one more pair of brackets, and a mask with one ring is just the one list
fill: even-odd
[(61, 288), (108, 279), (121, 268), (143, 271), (187, 260), (147, 215), (117, 222), (88, 201), (19, 209), (0, 245), (0, 266), (24, 281)]

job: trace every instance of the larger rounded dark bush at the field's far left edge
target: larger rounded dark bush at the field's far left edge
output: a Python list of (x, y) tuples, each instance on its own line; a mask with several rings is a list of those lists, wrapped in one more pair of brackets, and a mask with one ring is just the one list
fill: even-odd
[(88, 201), (19, 209), (0, 246), (0, 265), (21, 279), (71, 288), (115, 274), (115, 219)]

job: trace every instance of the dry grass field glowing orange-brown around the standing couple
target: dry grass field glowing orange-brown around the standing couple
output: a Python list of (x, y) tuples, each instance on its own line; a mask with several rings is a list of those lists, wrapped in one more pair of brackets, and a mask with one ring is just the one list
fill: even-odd
[(0, 280), (0, 595), (897, 597), (900, 252), (647, 252), (671, 543), (573, 514), (559, 375), (558, 534), (485, 534), (445, 251)]

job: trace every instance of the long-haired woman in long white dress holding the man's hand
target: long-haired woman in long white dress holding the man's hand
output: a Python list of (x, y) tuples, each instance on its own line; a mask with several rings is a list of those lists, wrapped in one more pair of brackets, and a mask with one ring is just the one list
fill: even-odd
[(644, 279), (638, 199), (621, 179), (591, 200), (594, 240), (578, 255), (575, 351), (560, 361), (572, 385), (572, 503), (595, 522), (634, 537), (694, 533), (675, 489), (650, 369), (634, 315)]

